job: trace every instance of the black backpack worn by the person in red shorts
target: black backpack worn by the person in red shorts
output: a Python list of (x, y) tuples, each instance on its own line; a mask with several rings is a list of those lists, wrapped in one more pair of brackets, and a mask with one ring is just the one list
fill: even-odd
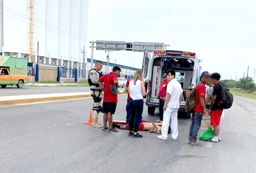
[(220, 85), (220, 87), (222, 88), (221, 89), (221, 94), (220, 94), (220, 103), (219, 103), (219, 105), (223, 109), (231, 108), (231, 106), (233, 104), (233, 100), (234, 100), (233, 95), (229, 92), (228, 88), (226, 88), (226, 86), (223, 83), (217, 83), (217, 84)]

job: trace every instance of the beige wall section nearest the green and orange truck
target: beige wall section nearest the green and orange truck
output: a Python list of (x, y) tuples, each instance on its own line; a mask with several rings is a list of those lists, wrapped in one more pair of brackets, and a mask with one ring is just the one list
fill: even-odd
[(39, 82), (41, 81), (56, 81), (57, 67), (39, 66)]

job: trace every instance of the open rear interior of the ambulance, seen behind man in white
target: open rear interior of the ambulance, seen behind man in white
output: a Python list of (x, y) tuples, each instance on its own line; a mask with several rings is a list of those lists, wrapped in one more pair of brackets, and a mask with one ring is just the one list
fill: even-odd
[(162, 76), (170, 69), (176, 72), (175, 79), (184, 90), (191, 88), (194, 69), (193, 59), (158, 57), (153, 61), (151, 99), (156, 99)]

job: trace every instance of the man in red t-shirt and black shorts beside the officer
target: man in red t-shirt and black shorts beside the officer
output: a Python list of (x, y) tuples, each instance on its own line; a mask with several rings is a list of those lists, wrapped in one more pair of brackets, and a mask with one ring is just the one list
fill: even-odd
[[(102, 130), (107, 130), (110, 132), (118, 132), (112, 127), (112, 115), (116, 112), (116, 103), (117, 103), (117, 88), (118, 88), (118, 79), (117, 76), (120, 74), (121, 69), (118, 66), (113, 67), (112, 72), (107, 75), (104, 75), (98, 79), (99, 85), (101, 88), (104, 88), (103, 93), (103, 105), (102, 112), (103, 115), (103, 127)], [(104, 83), (104, 85), (103, 85)], [(107, 127), (107, 122), (108, 126)]]

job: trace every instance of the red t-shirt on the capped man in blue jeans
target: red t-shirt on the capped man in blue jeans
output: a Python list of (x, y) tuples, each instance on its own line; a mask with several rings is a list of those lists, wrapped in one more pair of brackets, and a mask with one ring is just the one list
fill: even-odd
[(205, 85), (202, 81), (200, 83), (202, 83), (203, 85), (201, 84), (196, 88), (195, 97), (197, 102), (196, 102), (196, 106), (194, 107), (194, 111), (203, 113), (204, 108), (202, 107), (199, 98), (203, 97), (205, 102)]

